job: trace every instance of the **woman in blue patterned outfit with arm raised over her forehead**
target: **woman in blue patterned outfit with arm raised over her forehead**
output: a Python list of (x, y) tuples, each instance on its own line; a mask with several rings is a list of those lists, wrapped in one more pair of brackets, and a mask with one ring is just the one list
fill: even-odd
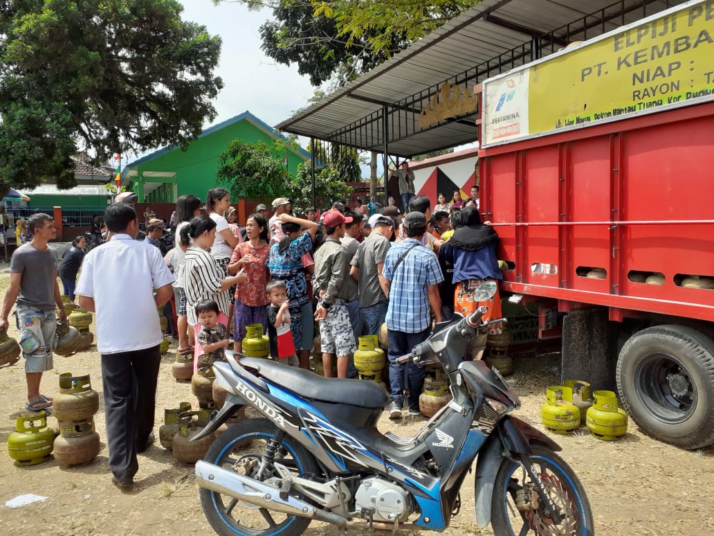
[[(308, 294), (308, 286), (303, 271), (303, 255), (313, 249), (313, 238), (318, 228), (316, 222), (300, 219), (290, 214), (280, 214), (278, 220), (282, 224), (284, 237), (270, 248), (266, 266), (272, 279), (285, 282), (290, 306), (290, 329), (293, 333), (293, 343), (296, 349), (303, 346), (303, 322), (313, 322), (312, 298)], [(301, 226), (305, 233), (301, 233)], [(305, 317), (308, 318), (305, 318)], [(307, 369), (309, 353), (300, 352), (300, 367)]]

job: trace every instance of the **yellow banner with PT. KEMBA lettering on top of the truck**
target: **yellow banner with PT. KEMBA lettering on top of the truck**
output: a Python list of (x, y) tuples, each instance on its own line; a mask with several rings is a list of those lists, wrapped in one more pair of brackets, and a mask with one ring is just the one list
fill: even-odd
[(533, 65), (530, 134), (712, 94), (713, 58), (706, 1)]

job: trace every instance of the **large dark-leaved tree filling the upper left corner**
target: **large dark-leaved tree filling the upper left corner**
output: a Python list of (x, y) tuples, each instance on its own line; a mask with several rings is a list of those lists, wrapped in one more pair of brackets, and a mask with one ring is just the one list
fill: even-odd
[(0, 194), (96, 162), (186, 147), (216, 110), (221, 39), (176, 0), (0, 1)]

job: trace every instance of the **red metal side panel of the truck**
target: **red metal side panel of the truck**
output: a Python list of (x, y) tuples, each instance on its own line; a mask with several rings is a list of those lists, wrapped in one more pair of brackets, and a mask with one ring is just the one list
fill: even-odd
[[(714, 320), (714, 290), (679, 286), (714, 277), (714, 104), (480, 156), (482, 211), (513, 267), (506, 289)], [(585, 277), (594, 268), (605, 278)], [(662, 285), (630, 279), (657, 272)]]

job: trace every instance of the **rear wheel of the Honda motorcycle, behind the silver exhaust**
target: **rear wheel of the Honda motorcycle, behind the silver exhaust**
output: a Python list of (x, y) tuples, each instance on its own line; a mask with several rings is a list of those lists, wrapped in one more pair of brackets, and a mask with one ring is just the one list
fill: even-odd
[[(270, 447), (275, 452), (274, 460), (294, 475), (316, 475), (318, 467), (313, 456), (288, 435), (280, 440), (277, 435), (278, 428), (267, 419), (238, 422), (218, 436), (203, 460), (265, 482), (279, 476), (271, 464), (261, 472), (263, 456)], [(311, 522), (306, 517), (274, 512), (205, 488), (199, 495), (206, 519), (223, 536), (298, 536)]]

